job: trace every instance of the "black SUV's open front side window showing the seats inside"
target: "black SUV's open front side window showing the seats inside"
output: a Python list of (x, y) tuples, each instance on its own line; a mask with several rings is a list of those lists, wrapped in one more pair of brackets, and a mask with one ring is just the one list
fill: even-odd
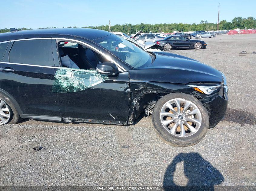
[(60, 41), (58, 52), (62, 67), (96, 70), (99, 63), (108, 62), (92, 49), (69, 41)]

